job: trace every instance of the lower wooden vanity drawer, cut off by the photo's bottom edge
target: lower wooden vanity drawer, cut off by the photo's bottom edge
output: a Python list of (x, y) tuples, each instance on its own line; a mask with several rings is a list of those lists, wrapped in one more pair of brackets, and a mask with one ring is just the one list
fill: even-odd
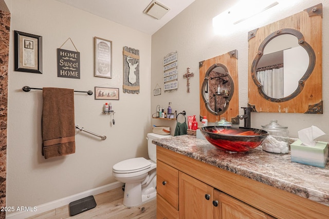
[(156, 195), (156, 218), (178, 219), (178, 211), (159, 194)]

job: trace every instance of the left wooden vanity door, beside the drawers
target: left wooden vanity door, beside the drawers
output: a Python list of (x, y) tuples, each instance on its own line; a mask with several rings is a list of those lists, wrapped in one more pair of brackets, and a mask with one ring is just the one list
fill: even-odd
[(179, 172), (179, 218), (213, 217), (213, 188)]

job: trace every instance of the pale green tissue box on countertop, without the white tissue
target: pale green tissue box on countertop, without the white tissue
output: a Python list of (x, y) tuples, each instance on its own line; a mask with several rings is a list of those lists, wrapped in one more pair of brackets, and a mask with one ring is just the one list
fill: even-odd
[(318, 141), (314, 147), (309, 147), (297, 140), (290, 145), (290, 154), (292, 162), (325, 168), (328, 161), (328, 143)]

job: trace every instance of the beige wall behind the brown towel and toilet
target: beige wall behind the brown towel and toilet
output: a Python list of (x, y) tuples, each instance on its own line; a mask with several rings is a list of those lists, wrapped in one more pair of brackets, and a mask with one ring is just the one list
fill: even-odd
[[(8, 106), (7, 206), (38, 206), (103, 186), (116, 180), (112, 166), (126, 158), (147, 155), (145, 137), (150, 132), (151, 35), (106, 21), (53, 0), (8, 0), (11, 17)], [(43, 37), (43, 74), (13, 71), (13, 31)], [(113, 42), (113, 78), (94, 76), (94, 36)], [(57, 48), (70, 37), (80, 52), (81, 79), (57, 77)], [(140, 93), (122, 92), (123, 47), (140, 51)], [(63, 49), (74, 50), (68, 41)], [(106, 135), (101, 141), (76, 133), (76, 153), (45, 160), (41, 155), (42, 91), (62, 87), (93, 90), (95, 86), (120, 89), (112, 101), (112, 117), (101, 114), (107, 101), (94, 95), (75, 94), (75, 122), (80, 127)]]

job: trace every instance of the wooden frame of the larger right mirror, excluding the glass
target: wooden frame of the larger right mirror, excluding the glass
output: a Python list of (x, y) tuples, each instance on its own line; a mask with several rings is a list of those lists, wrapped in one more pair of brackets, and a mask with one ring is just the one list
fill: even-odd
[[(255, 78), (266, 44), (281, 34), (293, 34), (309, 55), (309, 65), (298, 88), (283, 98), (271, 98)], [(322, 4), (248, 33), (248, 105), (254, 112), (322, 114)]]

